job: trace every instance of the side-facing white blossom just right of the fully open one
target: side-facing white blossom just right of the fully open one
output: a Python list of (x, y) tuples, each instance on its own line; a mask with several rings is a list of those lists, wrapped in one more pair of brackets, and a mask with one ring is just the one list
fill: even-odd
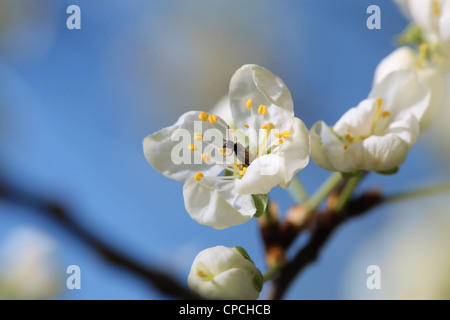
[(390, 73), (333, 127), (319, 121), (311, 128), (313, 161), (340, 172), (397, 169), (418, 138), (429, 100), (415, 72)]

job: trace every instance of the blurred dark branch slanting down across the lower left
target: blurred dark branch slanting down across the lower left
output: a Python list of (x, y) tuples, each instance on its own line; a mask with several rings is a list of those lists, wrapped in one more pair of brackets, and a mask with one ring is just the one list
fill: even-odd
[(5, 181), (0, 181), (0, 199), (56, 220), (66, 230), (99, 254), (105, 261), (129, 271), (135, 276), (141, 277), (161, 293), (180, 299), (199, 299), (196, 294), (179, 284), (165, 272), (143, 266), (95, 237), (80, 223), (75, 221), (72, 217), (76, 215), (64, 206), (17, 186), (13, 186)]

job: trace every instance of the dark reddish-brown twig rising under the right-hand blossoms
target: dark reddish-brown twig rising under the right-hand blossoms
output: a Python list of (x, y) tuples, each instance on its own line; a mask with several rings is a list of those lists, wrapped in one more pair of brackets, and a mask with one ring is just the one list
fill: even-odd
[(315, 213), (311, 219), (312, 230), (308, 243), (273, 278), (268, 298), (281, 299), (283, 297), (294, 278), (318, 258), (320, 250), (338, 226), (353, 217), (369, 212), (370, 209), (382, 202), (381, 193), (373, 190), (352, 199), (345, 211), (336, 212), (329, 207), (323, 213)]

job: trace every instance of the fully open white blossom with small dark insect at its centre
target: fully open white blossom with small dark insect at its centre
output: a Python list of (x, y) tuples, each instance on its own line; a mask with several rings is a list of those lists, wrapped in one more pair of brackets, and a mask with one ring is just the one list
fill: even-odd
[(294, 117), (291, 94), (270, 71), (257, 65), (238, 69), (229, 106), (232, 123), (190, 111), (143, 142), (156, 170), (184, 182), (191, 217), (216, 229), (248, 221), (257, 212), (254, 195), (286, 188), (310, 154), (309, 133)]

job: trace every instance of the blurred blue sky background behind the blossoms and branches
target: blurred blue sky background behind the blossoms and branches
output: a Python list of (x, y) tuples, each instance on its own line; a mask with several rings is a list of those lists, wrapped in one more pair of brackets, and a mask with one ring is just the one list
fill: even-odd
[[(373, 4), (381, 30), (366, 27)], [(69, 5), (81, 8), (81, 30), (66, 27)], [(64, 203), (100, 239), (182, 283), (196, 254), (216, 245), (244, 247), (264, 272), (255, 219), (221, 231), (194, 222), (182, 184), (146, 162), (143, 138), (213, 108), (246, 63), (284, 80), (308, 127), (333, 124), (368, 95), (407, 24), (384, 0), (0, 0), (0, 175)], [(449, 110), (397, 175), (361, 187), (449, 181)], [(299, 174), (311, 192), (327, 176), (312, 162)], [(280, 188), (270, 197), (282, 212), (293, 204)], [(450, 298), (449, 207), (440, 196), (352, 220), (286, 299)], [(366, 287), (373, 264), (381, 290)], [(69, 265), (81, 269), (81, 290), (65, 287)], [(168, 298), (58, 223), (3, 201), (0, 283), (3, 298)]]

